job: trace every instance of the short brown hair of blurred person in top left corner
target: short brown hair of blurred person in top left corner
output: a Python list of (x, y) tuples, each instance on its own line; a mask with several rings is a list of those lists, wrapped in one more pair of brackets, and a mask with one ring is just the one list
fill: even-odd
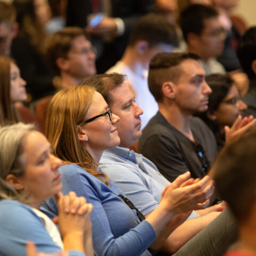
[(5, 23), (11, 27), (17, 19), (17, 12), (12, 4), (0, 2), (0, 24)]

